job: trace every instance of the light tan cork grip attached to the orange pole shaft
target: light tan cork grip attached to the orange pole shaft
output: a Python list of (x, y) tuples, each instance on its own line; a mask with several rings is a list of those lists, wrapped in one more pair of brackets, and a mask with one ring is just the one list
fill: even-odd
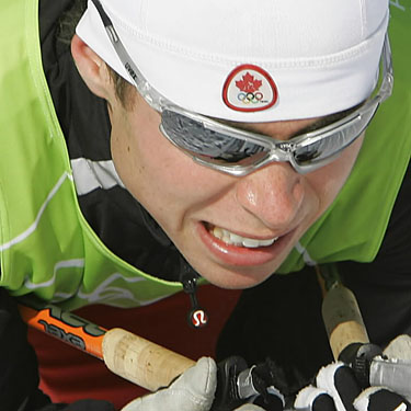
[(150, 391), (167, 387), (195, 364), (180, 354), (122, 329), (103, 339), (104, 363), (113, 373)]

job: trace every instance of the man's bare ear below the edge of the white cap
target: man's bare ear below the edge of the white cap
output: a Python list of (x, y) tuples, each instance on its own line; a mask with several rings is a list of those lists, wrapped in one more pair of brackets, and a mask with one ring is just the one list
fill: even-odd
[(110, 100), (112, 83), (106, 65), (77, 34), (71, 39), (71, 55), (91, 92)]

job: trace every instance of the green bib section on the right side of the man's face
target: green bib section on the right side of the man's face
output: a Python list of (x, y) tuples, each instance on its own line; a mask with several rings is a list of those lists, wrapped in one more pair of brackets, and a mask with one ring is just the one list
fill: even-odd
[(402, 2), (407, 3), (391, 1), (390, 8), (393, 93), (367, 128), (345, 185), (279, 273), (299, 271), (305, 264), (370, 262), (378, 253), (411, 153), (411, 8)]

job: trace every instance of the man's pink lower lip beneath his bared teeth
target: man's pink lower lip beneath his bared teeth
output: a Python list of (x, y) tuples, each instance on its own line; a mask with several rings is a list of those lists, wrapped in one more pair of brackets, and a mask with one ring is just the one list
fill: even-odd
[(221, 262), (236, 266), (262, 265), (277, 259), (289, 243), (294, 232), (295, 229), (279, 237), (269, 247), (246, 248), (227, 244), (214, 237), (203, 222), (198, 224), (199, 238), (207, 249)]

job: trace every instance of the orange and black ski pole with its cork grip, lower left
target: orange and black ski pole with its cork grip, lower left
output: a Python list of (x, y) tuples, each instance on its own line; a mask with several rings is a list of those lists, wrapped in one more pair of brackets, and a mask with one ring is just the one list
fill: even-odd
[(20, 305), (19, 309), (31, 327), (103, 359), (114, 374), (150, 391), (170, 385), (195, 364), (128, 331), (103, 329), (53, 305), (38, 310)]

